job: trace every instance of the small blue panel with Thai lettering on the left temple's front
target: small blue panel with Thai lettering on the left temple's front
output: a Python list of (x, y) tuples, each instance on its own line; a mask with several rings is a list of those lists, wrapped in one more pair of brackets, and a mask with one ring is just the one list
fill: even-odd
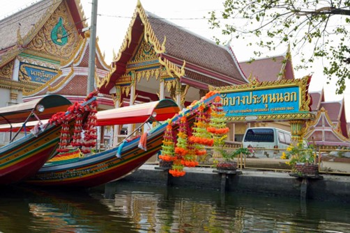
[(57, 70), (51, 68), (21, 62), (18, 79), (26, 82), (46, 83), (55, 77), (57, 73)]

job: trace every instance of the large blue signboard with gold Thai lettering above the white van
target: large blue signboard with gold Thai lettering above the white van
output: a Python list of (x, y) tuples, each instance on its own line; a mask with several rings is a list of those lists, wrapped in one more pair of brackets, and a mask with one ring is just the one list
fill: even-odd
[(298, 86), (221, 93), (221, 96), (227, 117), (289, 114), (300, 111)]

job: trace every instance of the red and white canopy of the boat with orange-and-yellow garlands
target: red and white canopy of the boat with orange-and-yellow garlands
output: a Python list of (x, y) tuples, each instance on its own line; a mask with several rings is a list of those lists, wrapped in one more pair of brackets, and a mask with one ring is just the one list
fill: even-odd
[(135, 124), (145, 122), (151, 117), (151, 115), (153, 115), (153, 118), (158, 121), (167, 120), (172, 118), (178, 113), (178, 111), (180, 111), (180, 108), (178, 108), (178, 105), (172, 101), (172, 99), (162, 99), (155, 102), (126, 106), (119, 109), (99, 111), (96, 114), (96, 117), (98, 126)]

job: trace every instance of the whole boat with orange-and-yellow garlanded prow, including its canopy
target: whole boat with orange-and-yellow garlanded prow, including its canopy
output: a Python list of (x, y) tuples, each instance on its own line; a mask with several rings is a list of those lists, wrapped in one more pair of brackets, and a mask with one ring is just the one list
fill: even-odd
[[(172, 116), (174, 116), (172, 122), (179, 121), (183, 116), (193, 122), (199, 105), (204, 103), (208, 106), (213, 102), (215, 96), (202, 98), (177, 115), (175, 114), (178, 113), (178, 106), (170, 99), (102, 111), (97, 115), (98, 125), (137, 122), (146, 124), (150, 121), (167, 120)], [(145, 133), (146, 138), (144, 134), (132, 140), (123, 140), (123, 143), (105, 152), (46, 163), (28, 182), (42, 186), (91, 187), (120, 179), (139, 168), (151, 156), (160, 151), (165, 128), (168, 124), (169, 121), (158, 124)], [(140, 145), (142, 139), (146, 139), (143, 141), (144, 145)]]

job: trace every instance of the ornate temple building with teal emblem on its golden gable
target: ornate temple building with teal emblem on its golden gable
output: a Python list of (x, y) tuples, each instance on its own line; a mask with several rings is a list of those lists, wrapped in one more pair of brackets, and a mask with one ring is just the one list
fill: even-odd
[[(47, 94), (82, 102), (87, 94), (90, 38), (79, 1), (38, 1), (0, 24), (0, 106)], [(97, 83), (111, 67), (96, 44)], [(100, 109), (114, 106), (110, 95), (100, 95), (98, 104)], [(1, 136), (0, 144), (5, 140)]]

